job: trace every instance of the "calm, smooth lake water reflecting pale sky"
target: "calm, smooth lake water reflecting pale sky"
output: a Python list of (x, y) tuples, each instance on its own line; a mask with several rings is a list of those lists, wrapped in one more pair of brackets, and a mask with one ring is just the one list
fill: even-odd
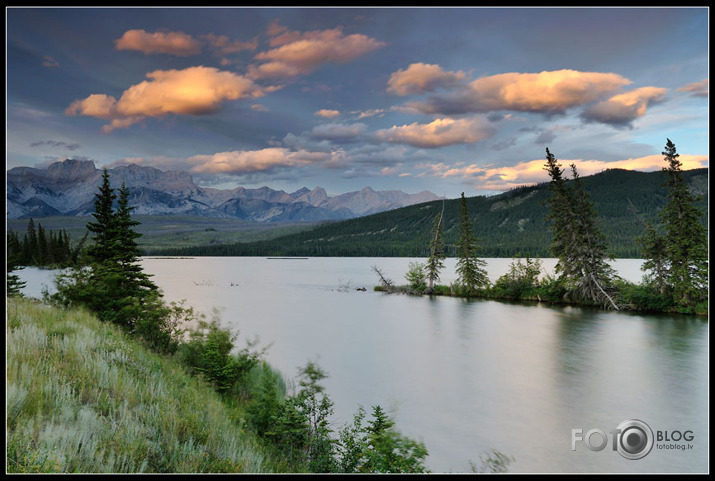
[[(425, 443), (433, 472), (468, 472), (492, 449), (515, 458), (512, 473), (709, 471), (706, 319), (372, 290), (371, 266), (404, 284), (414, 260), (424, 261), (145, 258), (143, 266), (167, 300), (219, 309), (240, 345), (270, 344), (268, 361), (288, 378), (317, 362), (329, 375), (336, 428), (359, 405), (380, 404)], [(496, 280), (511, 260), (487, 262)], [(555, 260), (543, 262), (553, 272)], [(454, 280), (454, 263), (447, 259), (442, 283)], [(640, 265), (614, 263), (635, 282)], [(51, 288), (49, 271), (20, 275), (28, 295)], [(572, 449), (574, 429), (586, 437), (634, 419), (653, 432), (641, 459), (614, 451), (610, 434), (600, 451), (582, 441)], [(589, 439), (601, 444), (597, 431)]]

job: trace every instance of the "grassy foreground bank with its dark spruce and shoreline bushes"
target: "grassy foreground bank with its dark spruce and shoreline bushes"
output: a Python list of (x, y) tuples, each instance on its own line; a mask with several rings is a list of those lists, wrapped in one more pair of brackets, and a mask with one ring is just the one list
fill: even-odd
[[(127, 189), (115, 193), (105, 171), (92, 243), (57, 293), (20, 299), (9, 272), (8, 472), (427, 472), (425, 445), (379, 405), (335, 429), (314, 362), (293, 385), (265, 348), (167, 305), (138, 264), (130, 213)], [(469, 469), (511, 461), (486, 456)]]

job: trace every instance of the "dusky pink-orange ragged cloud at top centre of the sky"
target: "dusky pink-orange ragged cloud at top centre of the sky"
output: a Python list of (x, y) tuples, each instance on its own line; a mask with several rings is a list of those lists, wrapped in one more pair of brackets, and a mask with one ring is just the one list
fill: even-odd
[(290, 32), (277, 23), (268, 30), (273, 33), (272, 48), (255, 56), (260, 65), (249, 66), (252, 78), (289, 78), (306, 75), (328, 62), (345, 63), (385, 45), (362, 34), (344, 35), (342, 29)]

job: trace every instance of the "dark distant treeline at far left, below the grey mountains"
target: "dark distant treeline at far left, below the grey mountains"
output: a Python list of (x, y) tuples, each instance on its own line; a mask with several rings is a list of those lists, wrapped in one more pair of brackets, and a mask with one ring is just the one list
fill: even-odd
[(8, 264), (38, 267), (74, 265), (84, 247), (86, 237), (85, 235), (73, 247), (70, 236), (64, 229), (45, 230), (40, 223), (35, 227), (35, 221), (30, 219), (22, 238), (12, 230), (7, 233)]

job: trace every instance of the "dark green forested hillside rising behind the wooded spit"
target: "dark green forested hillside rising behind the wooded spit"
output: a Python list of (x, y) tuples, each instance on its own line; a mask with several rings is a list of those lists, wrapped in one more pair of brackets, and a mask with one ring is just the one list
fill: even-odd
[[(658, 223), (665, 205), (665, 174), (606, 170), (581, 180), (598, 211), (600, 227), (614, 257), (640, 257), (635, 238), (642, 220)], [(702, 198), (707, 226), (708, 169), (684, 172), (691, 189)], [(482, 257), (550, 255), (551, 234), (546, 223), (547, 184), (522, 187), (497, 196), (467, 199)], [(444, 209), (447, 255), (455, 254), (459, 200), (435, 201), (254, 243), (169, 249), (151, 254), (205, 256), (404, 256), (427, 255), (434, 217)]]

